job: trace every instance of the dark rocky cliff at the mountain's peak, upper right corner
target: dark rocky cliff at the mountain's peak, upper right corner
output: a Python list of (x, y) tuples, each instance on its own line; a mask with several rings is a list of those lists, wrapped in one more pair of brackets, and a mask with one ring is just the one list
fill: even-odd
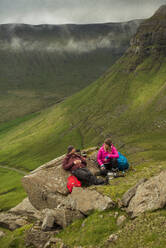
[[(166, 55), (166, 5), (161, 6), (155, 14), (143, 21), (137, 33), (130, 41), (127, 54), (135, 56), (134, 65), (131, 70), (140, 64), (146, 57), (153, 55), (158, 57)], [(132, 61), (133, 62), (133, 61)]]

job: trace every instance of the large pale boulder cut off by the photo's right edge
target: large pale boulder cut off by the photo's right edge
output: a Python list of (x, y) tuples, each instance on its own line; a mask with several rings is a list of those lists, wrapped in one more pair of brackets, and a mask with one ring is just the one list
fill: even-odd
[(127, 212), (134, 218), (145, 211), (166, 206), (166, 171), (140, 184), (128, 204)]

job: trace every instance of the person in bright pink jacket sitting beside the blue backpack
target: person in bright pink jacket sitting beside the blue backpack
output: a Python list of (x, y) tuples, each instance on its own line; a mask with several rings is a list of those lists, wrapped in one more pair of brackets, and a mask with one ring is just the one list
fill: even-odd
[(117, 158), (119, 158), (118, 151), (113, 146), (111, 139), (106, 139), (97, 154), (97, 162), (102, 175), (107, 175), (109, 171), (118, 168)]

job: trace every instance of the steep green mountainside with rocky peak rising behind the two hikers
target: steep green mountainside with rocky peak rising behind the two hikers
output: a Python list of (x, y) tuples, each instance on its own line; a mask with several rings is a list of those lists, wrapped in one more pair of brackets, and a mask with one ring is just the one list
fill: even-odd
[[(165, 50), (157, 40), (149, 49), (149, 42), (142, 38), (148, 36), (153, 19), (156, 14), (141, 24), (125, 55), (89, 87), (27, 117), (28, 121), (1, 125), (1, 163), (31, 170), (65, 152), (71, 143), (83, 148), (107, 136), (121, 143), (132, 135), (141, 142), (146, 135), (147, 143), (156, 142), (156, 153), (165, 156)], [(163, 30), (163, 37), (165, 22), (154, 21), (150, 37), (155, 39), (158, 30)]]

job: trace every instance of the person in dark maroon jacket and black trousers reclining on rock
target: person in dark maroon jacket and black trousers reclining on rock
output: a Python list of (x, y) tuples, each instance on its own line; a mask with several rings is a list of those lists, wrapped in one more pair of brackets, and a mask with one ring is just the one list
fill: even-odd
[(86, 159), (76, 153), (76, 149), (73, 146), (68, 147), (67, 155), (63, 161), (63, 168), (70, 171), (81, 183), (85, 183), (88, 186), (108, 183), (107, 180), (98, 179), (90, 172), (87, 168)]

